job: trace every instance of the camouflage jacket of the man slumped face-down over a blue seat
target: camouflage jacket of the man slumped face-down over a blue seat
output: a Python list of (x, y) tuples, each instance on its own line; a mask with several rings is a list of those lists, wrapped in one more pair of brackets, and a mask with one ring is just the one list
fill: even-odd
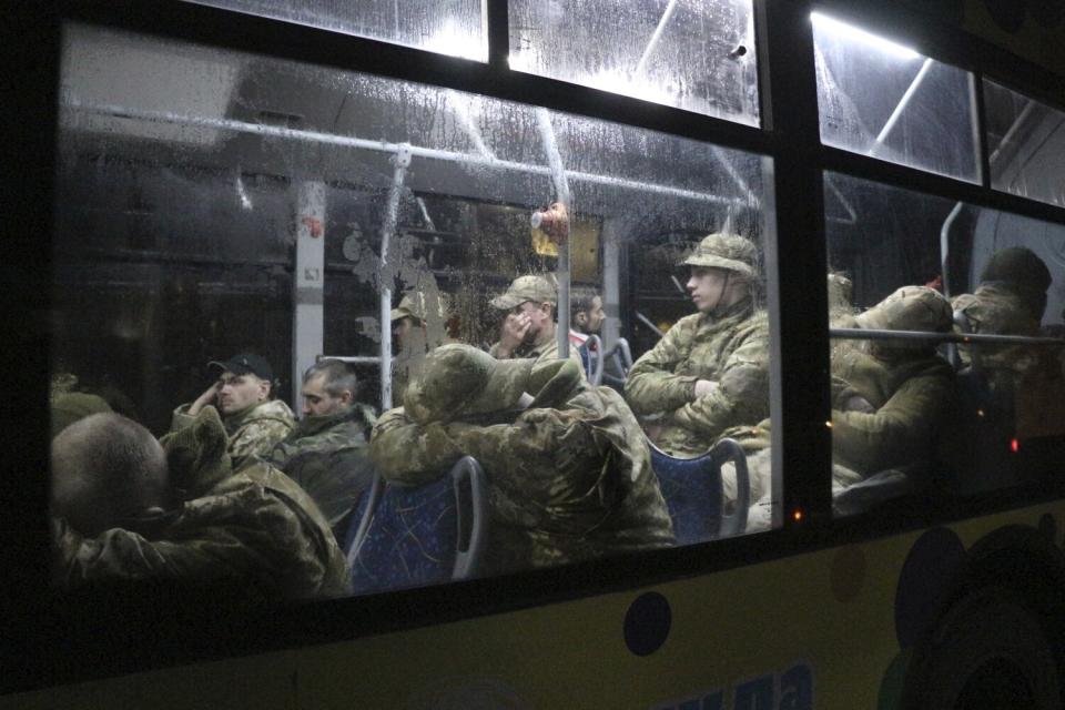
[(620, 395), (554, 382), (552, 402), (491, 422), (419, 425), (403, 410), (382, 416), (371, 454), (382, 475), (416, 486), (459, 457), (480, 462), (489, 480), (489, 574), (560, 565), (672, 545), (666, 501), (636, 417)]

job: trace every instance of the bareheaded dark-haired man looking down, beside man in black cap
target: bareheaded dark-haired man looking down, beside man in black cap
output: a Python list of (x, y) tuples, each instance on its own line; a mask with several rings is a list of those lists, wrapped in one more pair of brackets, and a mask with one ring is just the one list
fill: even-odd
[(323, 359), (303, 375), (303, 418), (263, 458), (307, 491), (337, 529), (374, 471), (366, 454), (377, 417), (355, 400), (358, 379), (347, 363)]

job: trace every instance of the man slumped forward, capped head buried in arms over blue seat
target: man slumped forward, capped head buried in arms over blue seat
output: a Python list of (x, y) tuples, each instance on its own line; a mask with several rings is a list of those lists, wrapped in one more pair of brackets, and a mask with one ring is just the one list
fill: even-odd
[(445, 345), (404, 407), (378, 420), (382, 475), (417, 486), (462, 456), (480, 462), (491, 508), (488, 574), (673, 542), (639, 424), (621, 397), (570, 361), (496, 361)]

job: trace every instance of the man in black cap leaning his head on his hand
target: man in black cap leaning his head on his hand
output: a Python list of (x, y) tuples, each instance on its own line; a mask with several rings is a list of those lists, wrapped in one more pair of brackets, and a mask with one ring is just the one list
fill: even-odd
[(174, 409), (171, 432), (189, 426), (201, 409), (213, 405), (222, 415), (234, 466), (253, 454), (266, 454), (292, 432), (295, 417), (288, 405), (272, 398), (274, 371), (263, 357), (242, 353), (207, 366), (222, 368), (222, 374), (195, 402)]

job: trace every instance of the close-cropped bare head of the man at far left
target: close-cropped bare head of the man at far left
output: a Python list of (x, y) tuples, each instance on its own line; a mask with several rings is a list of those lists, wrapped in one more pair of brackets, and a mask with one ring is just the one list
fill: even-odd
[(52, 514), (83, 535), (165, 507), (166, 455), (152, 433), (119, 414), (94, 414), (52, 439)]

